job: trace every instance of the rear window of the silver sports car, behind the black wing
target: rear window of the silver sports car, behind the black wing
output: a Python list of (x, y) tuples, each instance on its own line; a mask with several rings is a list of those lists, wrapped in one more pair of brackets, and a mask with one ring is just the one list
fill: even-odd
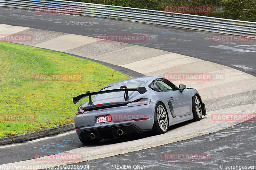
[[(112, 90), (112, 89), (120, 89), (120, 87), (122, 85), (126, 85), (126, 87), (128, 89), (138, 88), (143, 83), (145, 83), (145, 82), (144, 81), (137, 81), (137, 82), (127, 82), (127, 83), (122, 83), (122, 84), (116, 84), (116, 85), (112, 85), (110, 87), (104, 88), (102, 91)], [(134, 91), (128, 92), (128, 96), (131, 96), (133, 93), (134, 93)], [(105, 93), (105, 94), (98, 94), (98, 95), (94, 96), (93, 101), (100, 101), (100, 100), (113, 99), (113, 98), (119, 98), (119, 97), (124, 98), (124, 92), (111, 92), (111, 93)]]

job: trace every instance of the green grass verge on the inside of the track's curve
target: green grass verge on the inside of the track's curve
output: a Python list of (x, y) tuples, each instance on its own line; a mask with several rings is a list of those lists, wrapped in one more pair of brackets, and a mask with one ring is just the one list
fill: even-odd
[[(73, 122), (73, 96), (99, 91), (124, 74), (75, 56), (0, 42), (0, 137)], [(35, 74), (82, 74), (82, 81), (35, 81)], [(32, 115), (35, 119), (8, 120), (3, 116)]]

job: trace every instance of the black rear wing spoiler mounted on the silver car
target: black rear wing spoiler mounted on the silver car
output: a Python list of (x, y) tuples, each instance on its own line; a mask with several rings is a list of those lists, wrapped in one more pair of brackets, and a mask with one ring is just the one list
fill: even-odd
[(124, 101), (129, 99), (128, 91), (138, 91), (140, 94), (147, 92), (145, 87), (138, 87), (137, 89), (128, 89), (126, 85), (122, 85), (120, 89), (112, 89), (112, 90), (103, 90), (99, 92), (90, 92), (87, 91), (85, 94), (80, 94), (79, 96), (73, 97), (73, 103), (76, 104), (79, 100), (89, 97), (89, 105), (92, 105), (92, 96), (97, 94), (111, 93), (111, 92), (124, 92)]

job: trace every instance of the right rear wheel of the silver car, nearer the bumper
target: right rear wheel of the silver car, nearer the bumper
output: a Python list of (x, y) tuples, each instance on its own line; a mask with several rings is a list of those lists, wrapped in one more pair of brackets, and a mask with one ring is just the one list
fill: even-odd
[(153, 133), (156, 135), (164, 134), (169, 127), (168, 114), (162, 103), (157, 103), (155, 108), (155, 119), (153, 125)]

